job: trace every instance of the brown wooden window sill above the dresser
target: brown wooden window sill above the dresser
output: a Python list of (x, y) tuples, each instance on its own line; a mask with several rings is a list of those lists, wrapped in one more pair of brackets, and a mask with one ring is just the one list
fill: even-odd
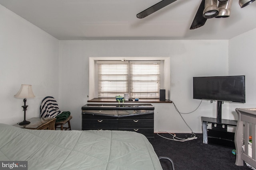
[[(114, 99), (99, 99), (94, 98), (92, 100), (88, 100), (87, 102), (103, 102), (103, 103), (113, 103), (117, 102)], [(139, 99), (139, 101), (125, 101), (124, 103), (172, 103), (170, 100), (160, 101), (159, 99)]]

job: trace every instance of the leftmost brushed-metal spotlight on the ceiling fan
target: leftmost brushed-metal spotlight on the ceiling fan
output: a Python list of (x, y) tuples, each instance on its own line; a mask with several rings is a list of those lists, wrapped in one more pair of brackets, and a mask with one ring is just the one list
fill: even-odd
[(218, 15), (219, 8), (217, 6), (217, 0), (205, 0), (203, 16), (204, 18), (214, 18)]

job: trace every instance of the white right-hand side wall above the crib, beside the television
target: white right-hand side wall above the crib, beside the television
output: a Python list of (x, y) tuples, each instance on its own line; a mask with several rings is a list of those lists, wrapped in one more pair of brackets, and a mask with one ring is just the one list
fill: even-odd
[(256, 107), (256, 29), (229, 40), (229, 73), (245, 75), (246, 103), (230, 104), (230, 119), (237, 120), (235, 108)]

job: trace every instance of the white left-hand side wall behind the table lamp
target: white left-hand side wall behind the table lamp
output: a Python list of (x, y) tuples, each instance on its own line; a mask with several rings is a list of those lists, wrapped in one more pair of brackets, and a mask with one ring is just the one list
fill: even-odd
[(0, 123), (24, 119), (23, 99), (14, 98), (21, 84), (32, 84), (26, 118), (39, 117), (42, 99), (58, 99), (59, 41), (0, 5)]

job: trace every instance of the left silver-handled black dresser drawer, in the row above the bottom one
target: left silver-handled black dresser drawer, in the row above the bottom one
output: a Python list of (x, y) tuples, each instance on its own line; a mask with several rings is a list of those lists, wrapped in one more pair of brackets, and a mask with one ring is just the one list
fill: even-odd
[(117, 127), (118, 120), (117, 119), (83, 119), (82, 127), (83, 128), (107, 128), (107, 127)]

